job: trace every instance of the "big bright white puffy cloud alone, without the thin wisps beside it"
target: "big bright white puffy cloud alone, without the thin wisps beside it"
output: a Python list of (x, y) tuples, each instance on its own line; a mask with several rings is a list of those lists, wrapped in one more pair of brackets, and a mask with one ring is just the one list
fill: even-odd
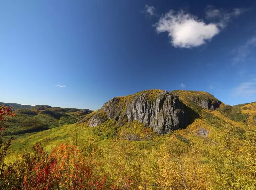
[(158, 33), (168, 32), (172, 45), (181, 48), (200, 46), (220, 32), (216, 24), (206, 24), (182, 10), (170, 10), (155, 26)]

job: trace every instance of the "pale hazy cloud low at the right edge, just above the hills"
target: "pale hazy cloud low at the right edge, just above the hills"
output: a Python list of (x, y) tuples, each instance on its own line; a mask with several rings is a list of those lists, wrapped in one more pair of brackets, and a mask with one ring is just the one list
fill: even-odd
[(235, 96), (253, 96), (256, 94), (256, 78), (244, 83), (240, 83), (234, 89)]

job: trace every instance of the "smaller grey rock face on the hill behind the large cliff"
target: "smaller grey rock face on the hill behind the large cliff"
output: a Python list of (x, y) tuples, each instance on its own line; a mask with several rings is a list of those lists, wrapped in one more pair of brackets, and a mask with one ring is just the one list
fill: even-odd
[(212, 99), (200, 99), (198, 96), (190, 97), (190, 99), (197, 105), (207, 110), (215, 110), (216, 108), (219, 108), (221, 104), (221, 101)]

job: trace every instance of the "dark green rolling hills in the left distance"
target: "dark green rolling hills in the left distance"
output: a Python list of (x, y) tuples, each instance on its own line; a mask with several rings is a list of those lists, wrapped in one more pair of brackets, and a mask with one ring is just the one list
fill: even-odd
[[(8, 104), (8, 106), (11, 105), (13, 104)], [(87, 110), (87, 112), (91, 113), (92, 111)], [(84, 117), (81, 109), (48, 105), (17, 108), (14, 113), (16, 117), (7, 122), (9, 128), (5, 131), (5, 136), (44, 131), (61, 125), (76, 123)]]

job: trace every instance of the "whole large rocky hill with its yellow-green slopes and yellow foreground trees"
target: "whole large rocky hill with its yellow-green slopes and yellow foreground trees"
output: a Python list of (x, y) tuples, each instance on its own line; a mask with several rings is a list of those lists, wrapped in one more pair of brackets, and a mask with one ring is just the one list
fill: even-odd
[(104, 179), (99, 189), (255, 189), (248, 110), (206, 92), (141, 91), (109, 100), (80, 123), (17, 136), (5, 162), (40, 142), (64, 151), (58, 159), (81, 155), (94, 176), (88, 180)]

